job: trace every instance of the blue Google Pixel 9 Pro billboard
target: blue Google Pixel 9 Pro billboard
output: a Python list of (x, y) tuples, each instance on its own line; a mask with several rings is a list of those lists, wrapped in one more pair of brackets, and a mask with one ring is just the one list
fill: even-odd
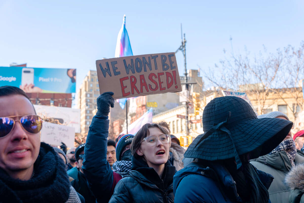
[(0, 67), (0, 86), (26, 93), (75, 93), (76, 69)]

